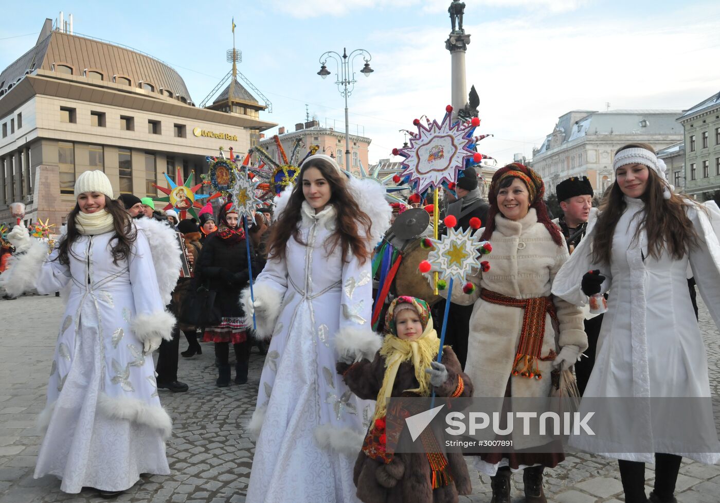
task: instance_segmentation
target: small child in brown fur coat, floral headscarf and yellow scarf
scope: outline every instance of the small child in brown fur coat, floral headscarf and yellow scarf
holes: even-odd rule
[[[337,371],[361,399],[377,399],[372,423],[355,463],[357,497],[364,503],[455,503],[469,494],[470,479],[461,453],[446,453],[433,465],[426,453],[386,453],[386,399],[391,396],[472,396],[472,383],[449,346],[436,362],[440,341],[428,304],[400,296],[385,317],[386,335],[372,361],[355,348],[338,345]]]

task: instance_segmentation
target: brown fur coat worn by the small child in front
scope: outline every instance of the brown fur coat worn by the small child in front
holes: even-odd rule
[[[448,379],[435,389],[436,395],[453,394],[457,377],[462,376],[464,391],[461,396],[472,396],[472,383],[449,346],[443,349],[442,363],[448,371]],[[382,386],[385,358],[378,352],[372,362],[365,359],[352,366],[338,363],[337,370],[344,374],[343,380],[359,398],[374,400]],[[401,363],[392,386],[392,396],[401,396],[405,389],[417,387],[413,364]],[[364,503],[456,503],[458,494],[470,494],[470,477],[461,453],[447,453],[446,456],[454,484],[433,490],[430,464],[425,454],[397,453],[386,465],[361,451],[353,474],[357,497]]]

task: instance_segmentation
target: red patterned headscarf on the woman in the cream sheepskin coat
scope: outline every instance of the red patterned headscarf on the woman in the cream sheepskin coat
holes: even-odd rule
[[[500,212],[498,208],[498,192],[500,191],[500,183],[507,178],[520,178],[528,188],[530,194],[530,207],[535,209],[538,217],[538,222],[545,226],[547,232],[550,233],[552,240],[558,246],[564,245],[564,239],[560,235],[560,231],[557,225],[554,225],[547,214],[547,207],[545,202],[542,200],[545,195],[545,184],[542,181],[541,176],[533,171],[531,168],[524,166],[521,163],[508,164],[492,176],[490,182],[490,211],[487,212],[487,225],[485,225],[485,232],[482,233],[482,240],[489,240],[492,232],[495,230],[495,215]]]

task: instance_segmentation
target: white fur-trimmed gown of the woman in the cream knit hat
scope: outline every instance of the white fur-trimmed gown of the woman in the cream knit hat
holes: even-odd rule
[[[143,354],[138,325],[167,324],[150,245],[138,231],[127,260],[112,262],[114,232],[83,235],[70,263],[45,260],[36,281],[41,294],[71,282],[55,348],[47,432],[35,478],[52,474],[60,489],[128,489],[140,473],[168,474],[165,438],[171,421],[158,399],[153,358]],[[55,258],[55,249],[50,259]]]

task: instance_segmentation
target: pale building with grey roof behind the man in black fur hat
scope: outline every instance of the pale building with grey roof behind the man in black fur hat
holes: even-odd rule
[[[680,110],[573,110],[559,117],[540,148],[533,149],[532,168],[540,173],[547,194],[570,176],[587,176],[593,189],[613,181],[615,150],[632,142],[662,149],[683,140],[676,119]]]

